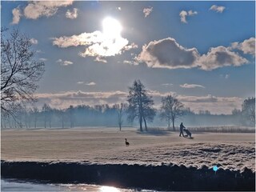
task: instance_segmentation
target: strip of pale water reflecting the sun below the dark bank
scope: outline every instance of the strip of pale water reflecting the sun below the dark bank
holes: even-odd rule
[[[138,190],[120,189],[114,186],[97,186],[86,184],[42,184],[38,182],[24,182],[16,179],[1,179],[1,191],[134,192]],[[140,191],[152,192],[153,190]]]

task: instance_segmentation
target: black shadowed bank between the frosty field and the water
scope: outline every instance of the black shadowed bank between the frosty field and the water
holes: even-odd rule
[[[5,162],[2,178],[33,179],[52,183],[87,183],[150,190],[255,191],[255,173],[208,167],[94,165],[77,162]]]

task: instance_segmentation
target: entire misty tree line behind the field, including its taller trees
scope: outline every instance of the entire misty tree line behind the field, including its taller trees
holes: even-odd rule
[[[2,114],[1,114],[2,115]],[[11,115],[2,115],[2,128],[73,128],[79,126],[167,126],[167,130],[175,130],[177,119],[189,126],[218,125],[255,125],[255,98],[246,98],[242,110],[234,109],[232,114],[210,114],[209,110],[200,110],[198,114],[190,108],[185,108],[182,102],[172,95],[162,98],[162,106],[154,109],[154,101],[140,81],[135,81],[129,87],[127,103],[117,103],[113,106],[69,106],[66,109],[55,109],[48,104],[42,108],[37,106],[19,106],[15,111],[15,120]],[[136,120],[136,121],[135,121]]]

